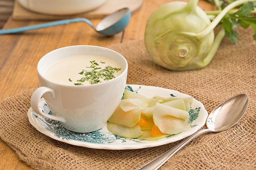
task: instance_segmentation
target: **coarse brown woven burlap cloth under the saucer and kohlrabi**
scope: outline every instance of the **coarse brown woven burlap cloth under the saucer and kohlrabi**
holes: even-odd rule
[[[212,62],[201,70],[177,72],[156,65],[142,39],[109,47],[128,61],[127,84],[186,93],[202,102],[208,113],[231,96],[246,93],[250,98],[248,110],[234,127],[197,137],[160,169],[256,169],[256,43],[252,29],[238,32],[238,43],[224,38]],[[34,90],[1,102],[0,137],[35,169],[136,169],[179,142],[115,151],[56,141],[29,124],[27,111]]]

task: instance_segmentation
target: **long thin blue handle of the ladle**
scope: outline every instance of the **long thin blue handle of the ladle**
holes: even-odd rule
[[[34,29],[38,29],[38,28],[45,28],[45,27],[50,27],[50,26],[55,26],[55,25],[64,25],[64,24],[68,24],[68,23],[81,22],[81,21],[86,22],[92,28],[94,28],[94,26],[92,25],[92,22],[89,19],[72,18],[72,19],[62,19],[62,20],[58,20],[58,21],[46,22],[43,24],[36,24],[36,25],[23,26],[23,27],[19,27],[19,28],[0,30],[0,34],[12,34],[12,33],[17,33],[17,32],[28,31],[28,30],[34,30]]]

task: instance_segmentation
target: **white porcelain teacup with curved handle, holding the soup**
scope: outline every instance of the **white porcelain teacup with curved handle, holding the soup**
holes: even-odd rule
[[[63,85],[44,78],[44,72],[54,62],[75,55],[97,54],[116,61],[122,73],[116,78],[83,86]],[[102,128],[116,109],[124,93],[128,64],[125,58],[100,46],[67,46],[44,55],[37,64],[40,87],[31,96],[31,108],[39,115],[60,121],[70,131],[91,132]],[[39,107],[41,97],[53,115]]]

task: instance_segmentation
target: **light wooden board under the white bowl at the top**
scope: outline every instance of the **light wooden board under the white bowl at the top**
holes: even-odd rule
[[[56,20],[66,18],[103,18],[122,8],[129,8],[131,12],[137,11],[143,0],[108,0],[104,5],[96,10],[76,15],[47,15],[36,13],[23,8],[17,1],[14,3],[12,19],[14,20]]]

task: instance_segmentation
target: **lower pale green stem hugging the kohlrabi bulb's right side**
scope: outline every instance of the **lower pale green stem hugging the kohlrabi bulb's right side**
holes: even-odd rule
[[[220,30],[220,32],[217,34],[217,36],[215,37],[214,42],[212,44],[212,48],[210,49],[210,51],[208,52],[207,56],[204,59],[203,63],[205,64],[205,66],[207,66],[209,64],[209,62],[211,62],[213,56],[215,55],[216,51],[218,50],[218,48],[220,46],[220,43],[221,43],[222,39],[224,38],[225,34],[226,34],[225,29],[222,28]]]

